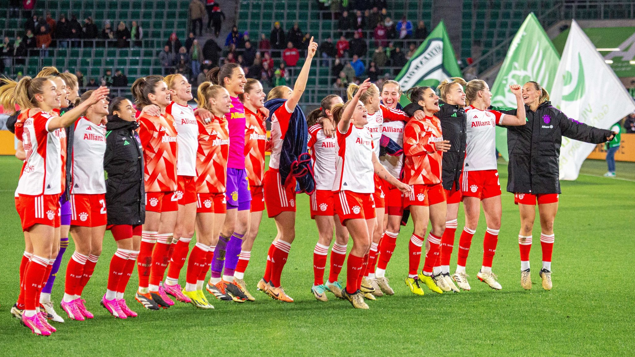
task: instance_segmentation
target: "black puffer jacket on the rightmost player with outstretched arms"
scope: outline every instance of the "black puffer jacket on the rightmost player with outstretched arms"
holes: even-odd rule
[[[497,108],[494,108],[497,109]],[[501,110],[516,115],[516,109]],[[551,102],[538,105],[535,112],[525,105],[527,123],[507,128],[509,179],[507,192],[549,194],[561,193],[559,157],[562,137],[600,144],[612,131],[580,123],[556,109]]]

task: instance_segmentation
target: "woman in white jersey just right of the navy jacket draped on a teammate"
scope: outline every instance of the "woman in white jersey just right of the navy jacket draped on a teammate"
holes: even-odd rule
[[[320,103],[320,107],[307,117],[309,125],[309,149],[311,150],[311,162],[316,181],[316,191],[311,194],[311,219],[318,226],[318,243],[313,250],[313,286],[311,292],[316,299],[328,300],[326,292],[330,291],[336,297],[342,297],[342,285],[338,281],[344,260],[346,248],[349,242],[349,231],[342,226],[340,217],[335,214],[335,193],[331,191],[335,181],[335,158],[337,157],[336,139],[331,132],[324,128],[335,128],[333,119],[333,107],[344,101],[338,95],[327,95]],[[321,121],[321,123],[319,123]],[[327,133],[327,131],[329,131]],[[335,244],[331,248],[330,273],[324,283],[324,270],[326,269],[326,255],[328,247],[333,241],[335,231]]]

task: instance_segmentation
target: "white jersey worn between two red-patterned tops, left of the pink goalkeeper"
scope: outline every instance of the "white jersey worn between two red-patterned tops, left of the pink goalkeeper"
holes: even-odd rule
[[[174,118],[174,127],[177,130],[177,175],[196,176],[198,125],[194,117],[194,109],[189,105],[171,102],[165,112]]]

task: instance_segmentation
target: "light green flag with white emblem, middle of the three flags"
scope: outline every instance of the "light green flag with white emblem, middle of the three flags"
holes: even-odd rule
[[[491,105],[516,108],[516,97],[509,90],[510,84],[537,81],[550,91],[560,58],[538,19],[530,13],[509,45],[507,56],[491,87]],[[549,92],[551,93],[551,91]],[[496,149],[509,160],[507,129],[496,127]]]

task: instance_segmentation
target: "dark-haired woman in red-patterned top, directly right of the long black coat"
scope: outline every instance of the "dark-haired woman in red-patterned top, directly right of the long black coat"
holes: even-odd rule
[[[146,213],[137,258],[139,289],[135,299],[144,307],[158,304],[167,309],[174,302],[159,285],[168,266],[177,221],[177,130],[173,117],[165,112],[171,101],[163,77],[138,78],[130,89],[138,109],[154,104],[161,111],[159,116],[142,112],[138,117],[144,150]]]

